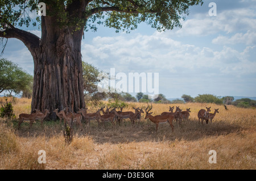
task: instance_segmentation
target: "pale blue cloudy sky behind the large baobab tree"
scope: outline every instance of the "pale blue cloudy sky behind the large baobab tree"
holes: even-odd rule
[[[216,16],[210,16],[216,3]],[[256,0],[204,1],[189,8],[182,28],[158,32],[145,23],[130,33],[98,26],[85,32],[82,60],[110,73],[159,73],[159,93],[256,96]],[[37,27],[28,31],[40,36]],[[32,56],[9,39],[3,58],[33,74]],[[136,92],[129,92],[135,95]]]

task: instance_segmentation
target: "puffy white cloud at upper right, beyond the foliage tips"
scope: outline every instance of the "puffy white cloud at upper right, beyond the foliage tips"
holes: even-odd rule
[[[170,33],[177,36],[208,36],[216,33],[254,31],[256,29],[255,9],[223,10],[217,16],[199,13],[192,19],[181,21],[182,28]]]

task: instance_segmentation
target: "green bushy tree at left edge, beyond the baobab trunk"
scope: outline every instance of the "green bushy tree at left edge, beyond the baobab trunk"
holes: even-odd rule
[[[26,73],[17,64],[6,60],[0,59],[0,93],[3,91],[9,91],[19,94],[22,91],[28,89],[31,86],[32,75]]]

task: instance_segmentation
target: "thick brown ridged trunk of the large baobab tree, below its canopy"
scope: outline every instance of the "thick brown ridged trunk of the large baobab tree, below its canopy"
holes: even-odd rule
[[[76,112],[85,107],[82,86],[82,31],[42,30],[42,40],[34,57],[34,86],[31,111],[48,109],[55,119],[56,108]]]

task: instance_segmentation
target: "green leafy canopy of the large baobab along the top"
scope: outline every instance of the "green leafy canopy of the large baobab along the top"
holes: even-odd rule
[[[13,26],[37,26],[36,21],[29,16],[29,12],[38,11],[41,1],[0,1],[0,28],[9,22]],[[180,19],[189,14],[189,6],[202,5],[203,0],[191,1],[127,1],[127,0],[93,0],[84,5],[84,1],[60,0],[43,1],[47,5],[47,16],[55,18],[55,26],[69,26],[74,30],[96,31],[97,24],[115,28],[118,31],[130,32],[145,22],[158,31],[172,30],[181,27]],[[84,6],[84,8],[81,8]]]

